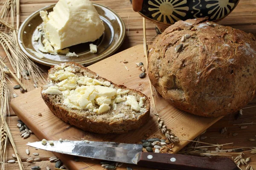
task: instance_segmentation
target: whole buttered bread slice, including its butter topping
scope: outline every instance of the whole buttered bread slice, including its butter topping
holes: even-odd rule
[[[125,133],[144,125],[150,102],[140,91],[116,85],[73,62],[52,66],[41,95],[49,109],[83,130]]]

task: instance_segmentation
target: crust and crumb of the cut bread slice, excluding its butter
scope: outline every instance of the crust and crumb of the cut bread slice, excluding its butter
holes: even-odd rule
[[[126,88],[123,85],[116,85],[110,81],[108,82],[111,83],[111,88],[116,90],[121,89],[121,92],[128,91],[127,94],[122,94],[122,97],[125,95],[132,95],[135,96],[137,101],[140,101],[140,98],[143,98],[143,111],[134,111],[131,109],[130,105],[126,105],[125,102],[119,102],[116,104],[116,108],[113,108],[113,106],[111,106],[110,110],[104,113],[97,114],[88,109],[75,109],[68,107],[68,105],[64,105],[64,96],[61,93],[45,93],[47,88],[53,85],[58,85],[58,83],[61,82],[60,80],[52,80],[52,75],[60,69],[66,70],[66,68],[73,69],[73,74],[78,77],[87,76],[93,79],[97,79],[100,82],[108,81],[105,78],[99,77],[96,73],[90,71],[88,68],[82,65],[78,65],[76,63],[69,62],[57,66],[52,66],[51,69],[48,71],[48,84],[41,88],[41,95],[44,99],[44,102],[47,104],[52,113],[54,113],[64,122],[70,123],[70,125],[74,125],[83,130],[95,133],[125,133],[128,130],[137,129],[138,127],[148,122],[150,102],[147,96],[142,94],[140,91]],[[77,84],[77,87],[80,86],[81,85]],[[95,107],[99,108],[99,105],[95,104]]]

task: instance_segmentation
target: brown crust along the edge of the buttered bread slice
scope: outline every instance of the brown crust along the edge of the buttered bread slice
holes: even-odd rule
[[[105,81],[109,81],[103,77],[97,76],[96,73],[91,71],[90,69],[79,65],[74,62],[67,63],[68,65],[77,65],[81,67],[81,69],[85,72],[89,72],[90,74],[97,77],[97,79],[104,79]],[[55,72],[54,66],[51,67],[51,69],[48,71],[49,74]],[[48,82],[49,82],[49,74],[48,74]],[[111,81],[109,81],[111,82]],[[123,90],[129,90],[132,93],[136,93],[140,95],[141,97],[144,97],[145,95],[141,93],[140,91],[136,91],[134,89],[126,88],[124,85],[116,85],[115,83],[111,82],[115,87],[122,88]],[[45,90],[46,87],[42,87],[41,91]],[[130,93],[130,92],[129,92]],[[128,94],[129,94],[128,93]],[[67,108],[64,105],[61,105],[60,103],[56,103],[51,98],[52,95],[49,94],[42,94],[42,98],[44,99],[44,102],[47,104],[49,109],[52,111],[53,114],[55,114],[58,118],[62,119],[64,122],[69,123],[70,125],[74,125],[76,127],[79,127],[83,130],[87,130],[90,132],[95,133],[126,133],[128,130],[134,130],[139,128],[140,126],[144,125],[146,122],[148,122],[149,119],[149,113],[150,113],[150,102],[145,96],[144,105],[146,106],[146,112],[138,116],[137,119],[119,119],[118,121],[106,121],[106,120],[95,120],[90,119],[87,116],[84,116],[83,114],[79,114],[76,112],[75,109]]]

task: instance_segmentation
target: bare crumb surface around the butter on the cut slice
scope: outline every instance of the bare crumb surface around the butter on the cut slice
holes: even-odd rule
[[[60,80],[55,81],[55,80],[51,79],[50,75],[54,74],[58,70],[61,70],[61,69],[67,68],[67,67],[73,68],[74,69],[73,73],[76,74],[78,77],[87,76],[87,77],[90,77],[93,79],[97,79],[100,82],[108,81],[107,79],[99,77],[97,74],[93,73],[92,71],[88,71],[87,68],[81,67],[80,65],[77,65],[75,63],[64,63],[62,65],[52,67],[49,70],[48,84],[42,88],[42,93],[44,93],[47,90],[47,88],[49,88],[49,86],[57,85],[59,82],[61,82]],[[110,82],[110,83],[111,83],[111,88],[113,88],[113,89],[116,89],[116,90],[121,89],[121,91],[128,91],[127,94],[119,95],[122,98],[125,98],[125,96],[128,96],[128,95],[132,95],[132,96],[135,96],[137,102],[140,102],[141,98],[145,99],[144,103],[143,103],[143,107],[140,109],[140,111],[135,111],[134,109],[131,108],[131,105],[128,105],[124,101],[124,102],[116,103],[116,107],[114,107],[114,105],[110,105],[111,107],[110,107],[109,111],[106,111],[101,114],[97,114],[97,113],[93,112],[92,110],[74,109],[74,108],[67,107],[67,105],[63,105],[64,96],[61,94],[60,95],[47,94],[47,95],[48,95],[49,99],[52,102],[54,102],[56,105],[58,105],[60,108],[67,110],[70,113],[74,113],[74,114],[80,115],[82,117],[86,117],[87,119],[97,121],[97,122],[119,122],[119,121],[122,122],[123,119],[130,119],[133,121],[133,120],[139,119],[141,115],[145,114],[145,112],[147,112],[149,110],[149,101],[144,94],[142,94],[138,91],[127,89],[122,85],[115,85],[112,82]],[[81,87],[81,85],[78,84],[77,87]],[[95,108],[99,109],[99,105],[97,105],[97,103],[95,103]]]

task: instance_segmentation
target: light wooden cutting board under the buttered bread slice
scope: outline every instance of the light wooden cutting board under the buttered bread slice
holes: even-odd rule
[[[124,64],[122,61],[128,61],[128,63]],[[143,45],[129,48],[112,57],[97,62],[96,64],[90,65],[88,68],[99,74],[101,77],[105,77],[116,84],[123,84],[128,88],[140,90],[151,98],[148,76],[144,79],[139,78],[141,71],[136,66],[135,62],[143,62],[146,65]],[[175,147],[173,148],[174,153],[177,153],[189,143],[186,140],[195,139],[196,136],[221,119],[221,117],[204,118],[180,111],[159,95],[155,95],[154,99],[157,111],[160,117],[165,120],[167,127],[171,128],[180,139],[184,139],[178,144],[175,144]],[[35,133],[36,136],[38,136],[39,139],[86,139],[91,141],[138,143],[142,139],[151,137],[158,137],[160,139],[165,138],[158,129],[157,119],[154,116],[152,104],[151,119],[146,125],[125,134],[107,135],[79,130],[76,127],[63,122],[61,119],[58,119],[44,103],[39,88],[13,99],[11,101],[11,106],[16,115]],[[38,116],[38,113],[41,113],[42,116]],[[95,164],[95,161],[92,163],[89,159],[83,159],[77,162],[74,161],[73,156],[59,153],[55,153],[55,155],[58,156],[71,170],[85,169],[88,165],[93,165],[93,169],[95,170],[102,170],[100,164]]]

